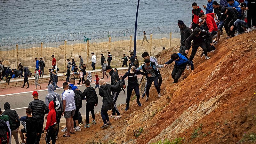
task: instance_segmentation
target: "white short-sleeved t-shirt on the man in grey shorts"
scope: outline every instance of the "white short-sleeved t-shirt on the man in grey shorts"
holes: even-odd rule
[[[75,92],[73,90],[66,90],[62,94],[62,100],[66,100],[65,111],[72,111],[76,109]]]

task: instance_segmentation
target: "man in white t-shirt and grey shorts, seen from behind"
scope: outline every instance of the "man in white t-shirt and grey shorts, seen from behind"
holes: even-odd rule
[[[63,137],[70,137],[70,133],[74,133],[73,116],[76,111],[75,93],[73,90],[68,89],[68,83],[62,84],[64,92],[61,94],[63,102],[64,117],[66,118],[67,133]],[[70,130],[71,129],[71,130]]]

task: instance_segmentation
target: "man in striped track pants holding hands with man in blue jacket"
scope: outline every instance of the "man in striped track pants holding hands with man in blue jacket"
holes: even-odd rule
[[[158,65],[153,61],[150,61],[149,59],[144,60],[144,64],[142,64],[137,70],[143,70],[144,73],[146,73],[147,77],[147,84],[146,84],[146,102],[148,102],[149,98],[149,89],[152,85],[152,82],[154,82],[156,91],[158,93],[158,97],[161,97],[160,88],[158,85],[158,72],[157,68],[163,68],[163,65]]]

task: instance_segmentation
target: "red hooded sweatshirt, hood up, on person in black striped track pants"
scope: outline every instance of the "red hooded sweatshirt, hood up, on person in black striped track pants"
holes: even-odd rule
[[[48,128],[54,124],[56,124],[56,112],[55,112],[55,108],[54,108],[54,102],[51,101],[49,104],[49,113],[47,116],[47,121],[46,121],[46,125],[45,125],[45,130],[47,131]]]

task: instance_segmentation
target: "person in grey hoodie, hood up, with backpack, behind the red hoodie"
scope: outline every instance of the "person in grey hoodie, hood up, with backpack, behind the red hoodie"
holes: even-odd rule
[[[56,99],[54,99],[56,98]],[[56,92],[54,92],[54,87],[52,84],[49,84],[48,86],[48,94],[45,96],[45,104],[47,107],[49,107],[50,102],[54,100],[56,103],[56,120],[57,120],[57,124],[58,124],[58,128],[57,128],[57,132],[56,132],[56,139],[58,139],[58,134],[59,134],[59,129],[60,129],[60,118],[61,116],[63,116],[63,104],[62,104],[62,100],[60,98],[60,95]],[[57,105],[59,103],[59,105]],[[47,117],[47,115],[45,116],[45,118]]]

